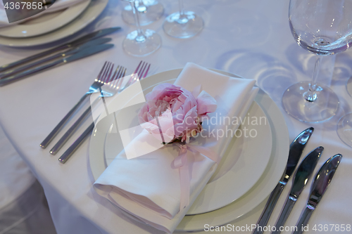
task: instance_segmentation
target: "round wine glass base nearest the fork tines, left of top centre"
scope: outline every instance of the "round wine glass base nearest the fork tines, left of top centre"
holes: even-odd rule
[[[122,42],[122,48],[131,56],[147,56],[161,46],[161,37],[153,30],[145,30],[144,38],[138,37],[137,30],[127,34]]]

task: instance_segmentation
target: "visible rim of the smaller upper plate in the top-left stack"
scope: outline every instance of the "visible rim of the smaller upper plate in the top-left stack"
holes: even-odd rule
[[[18,25],[1,27],[0,36],[2,37],[34,37],[41,34],[46,34],[57,30],[63,25],[67,25],[69,22],[74,20],[80,13],[82,13],[87,6],[89,6],[91,0],[82,1],[79,4],[75,4],[69,8],[58,13],[47,13],[30,20],[30,22],[23,22]]]

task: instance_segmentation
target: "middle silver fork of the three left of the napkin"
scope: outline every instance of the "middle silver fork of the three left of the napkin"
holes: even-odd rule
[[[118,66],[114,72],[114,74],[112,75],[113,72],[113,65],[111,66],[111,68],[106,72],[106,76],[103,76],[102,79],[99,79],[98,82],[100,82],[102,85],[103,84],[113,84],[113,82],[115,82],[116,80],[120,79],[121,77],[125,76],[126,73],[126,68],[122,67],[122,66]],[[83,120],[87,117],[87,115],[91,112],[92,110],[92,106],[96,105],[96,103],[100,100],[100,98],[103,97],[109,97],[109,96],[113,96],[114,90],[112,91],[106,91],[106,90],[101,90],[101,87],[99,87],[99,90],[101,92],[100,96],[98,98],[96,98],[96,100],[94,100],[91,105],[89,105],[89,107],[87,108],[87,110],[85,110],[82,115],[76,120],[76,122],[70,127],[70,129],[68,129],[68,131],[65,132],[65,134],[63,134],[63,136],[60,138],[60,140],[58,140],[58,142],[54,145],[54,147],[50,150],[50,153],[52,155],[56,155],[56,152],[58,152],[58,150],[60,150],[63,145],[66,143],[66,141],[68,141],[68,139],[70,138],[70,136],[72,136],[72,134],[75,132],[75,130],[78,128],[78,126],[80,126],[80,124],[83,122]]]

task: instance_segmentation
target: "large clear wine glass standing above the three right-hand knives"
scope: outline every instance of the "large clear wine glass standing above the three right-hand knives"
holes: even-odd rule
[[[292,35],[299,46],[317,55],[312,80],[290,86],[282,96],[284,110],[296,119],[321,122],[336,114],[339,98],[317,79],[322,56],[345,51],[351,45],[351,11],[349,0],[290,0]]]

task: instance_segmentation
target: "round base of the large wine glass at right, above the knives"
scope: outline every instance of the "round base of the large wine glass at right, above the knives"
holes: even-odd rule
[[[302,122],[322,122],[336,115],[339,98],[336,93],[323,84],[317,84],[318,98],[313,102],[303,95],[308,91],[310,82],[299,82],[284,91],[282,105],[292,117]]]

